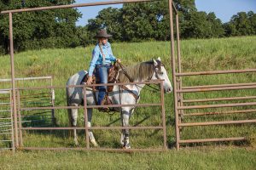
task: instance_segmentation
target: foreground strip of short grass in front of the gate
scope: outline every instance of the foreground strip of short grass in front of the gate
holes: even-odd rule
[[[18,151],[3,153],[0,169],[255,169],[256,152],[219,147],[160,153]]]

